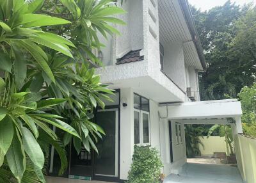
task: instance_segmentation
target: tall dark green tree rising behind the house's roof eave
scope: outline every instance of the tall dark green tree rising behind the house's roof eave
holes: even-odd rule
[[[240,29],[237,20],[242,19],[249,9],[250,4],[240,7],[231,1],[209,12],[200,12],[192,7],[209,64],[200,79],[202,100],[226,99],[225,93],[236,97],[244,85],[253,83],[252,72],[248,72],[248,67],[252,67],[253,63],[248,62],[246,67],[241,67],[243,65],[234,48],[234,40]],[[246,40],[243,41],[246,44]]]

